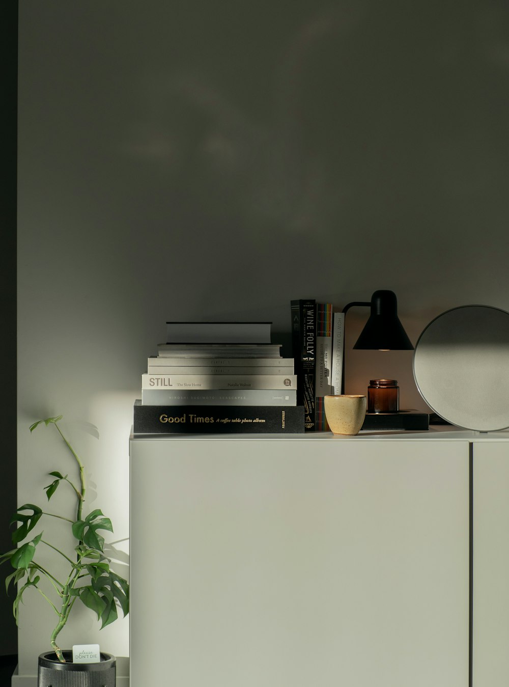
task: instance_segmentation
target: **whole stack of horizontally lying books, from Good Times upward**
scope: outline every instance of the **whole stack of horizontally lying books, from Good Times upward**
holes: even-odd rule
[[[135,433],[304,431],[293,358],[270,322],[167,322],[148,358]]]

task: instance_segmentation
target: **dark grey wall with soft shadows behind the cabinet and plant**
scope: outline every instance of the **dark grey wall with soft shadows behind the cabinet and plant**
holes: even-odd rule
[[[509,309],[508,22],[498,0],[22,0],[19,499],[65,460],[28,425],[63,412],[126,558],[167,319],[270,319],[289,354],[295,297],[393,289],[414,343],[447,308]],[[395,376],[425,408],[411,352],[346,365],[347,392]],[[88,622],[127,655],[126,623]],[[21,671],[47,627],[21,628]]]

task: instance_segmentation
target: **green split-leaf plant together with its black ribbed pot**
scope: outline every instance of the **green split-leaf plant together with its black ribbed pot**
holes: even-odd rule
[[[60,415],[39,420],[30,427],[30,431],[34,431],[42,423],[46,427],[52,425],[67,445],[73,456],[73,462],[76,464],[78,480],[69,477],[68,473],[52,471],[49,475],[53,477],[53,480],[45,486],[45,491],[49,501],[60,484],[65,484],[76,497],[76,512],[58,515],[47,513],[34,504],[20,506],[10,520],[10,524],[18,523],[16,530],[12,533],[12,543],[16,545],[16,548],[1,555],[0,564],[10,561],[14,568],[14,572],[5,579],[5,587],[8,589],[10,584],[18,585],[12,606],[16,623],[19,620],[19,604],[25,600],[28,589],[30,589],[28,594],[33,591],[41,594],[52,611],[56,613],[56,624],[49,638],[52,650],[39,656],[39,687],[52,684],[65,686],[79,684],[83,687],[95,685],[110,687],[111,685],[114,687],[116,674],[114,656],[101,653],[99,663],[72,663],[72,652],[60,649],[57,642],[58,634],[65,627],[78,600],[97,615],[102,623],[101,629],[117,619],[118,607],[124,616],[129,611],[128,583],[111,570],[111,561],[104,555],[104,538],[100,531],[113,532],[111,520],[104,517],[98,508],[87,514],[84,512],[86,493],[84,466],[58,426],[61,418]],[[54,517],[69,523],[73,542],[76,543],[73,551],[60,550],[60,544],[47,541],[43,531],[32,536],[40,520]],[[64,561],[67,570],[63,576],[60,572],[48,570],[47,564],[43,566],[38,563],[37,551],[41,547],[48,548],[56,558]]]

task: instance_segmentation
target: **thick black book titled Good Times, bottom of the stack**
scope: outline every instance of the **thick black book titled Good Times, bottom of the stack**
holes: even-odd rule
[[[167,407],[137,400],[133,420],[136,434],[304,433],[302,406]]]

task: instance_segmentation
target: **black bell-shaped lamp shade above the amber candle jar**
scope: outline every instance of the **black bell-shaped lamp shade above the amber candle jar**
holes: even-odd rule
[[[398,302],[393,291],[375,291],[371,314],[357,343],[357,350],[413,350],[410,339],[398,319]]]

